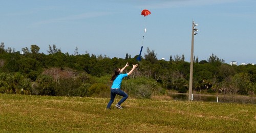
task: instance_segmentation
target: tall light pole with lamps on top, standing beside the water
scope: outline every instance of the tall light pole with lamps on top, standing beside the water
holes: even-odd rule
[[[195,27],[197,26],[197,24],[195,24],[194,20],[192,23],[192,40],[191,40],[191,55],[190,55],[190,75],[189,75],[189,89],[188,89],[188,100],[192,101],[193,97],[192,97],[192,86],[193,86],[193,63],[194,63],[194,35],[196,35],[196,31],[198,31],[198,29],[196,29]]]

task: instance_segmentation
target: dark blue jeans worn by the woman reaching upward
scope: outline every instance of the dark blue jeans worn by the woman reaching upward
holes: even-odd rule
[[[118,105],[121,105],[128,98],[128,95],[125,92],[123,92],[122,90],[111,88],[110,102],[108,103],[106,108],[111,107],[111,104],[114,102],[116,95],[123,96],[123,98],[117,103]]]

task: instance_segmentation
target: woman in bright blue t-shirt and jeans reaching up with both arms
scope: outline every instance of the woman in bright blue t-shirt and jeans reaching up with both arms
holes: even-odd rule
[[[129,66],[128,63],[126,63],[125,66],[122,69],[116,69],[115,74],[111,78],[112,86],[111,86],[110,101],[109,101],[108,105],[106,106],[106,108],[108,108],[108,109],[110,109],[111,104],[114,102],[116,95],[119,95],[119,96],[123,97],[116,104],[116,107],[118,107],[119,109],[122,109],[122,107],[120,105],[128,98],[128,95],[121,90],[122,79],[124,77],[127,77],[128,75],[132,74],[134,69],[138,66],[138,64],[135,64],[135,65],[133,64],[133,69],[129,73],[122,74],[123,70],[127,66]]]

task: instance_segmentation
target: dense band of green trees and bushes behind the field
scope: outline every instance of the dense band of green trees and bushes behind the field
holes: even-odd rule
[[[134,73],[122,84],[123,90],[139,98],[164,95],[166,90],[186,93],[190,62],[184,55],[158,60],[147,48],[141,61],[126,53],[125,58],[109,58],[86,52],[62,53],[55,45],[47,54],[31,45],[22,54],[0,45],[0,93],[51,96],[109,96],[110,77],[116,68],[138,63]],[[253,95],[256,93],[256,66],[229,65],[214,54],[207,60],[194,57],[193,91],[197,93]],[[131,66],[129,66],[131,67]],[[129,70],[129,68],[127,68]],[[125,72],[124,72],[125,73]]]

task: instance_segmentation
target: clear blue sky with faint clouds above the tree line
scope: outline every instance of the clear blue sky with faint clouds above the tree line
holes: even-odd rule
[[[256,63],[254,0],[1,0],[0,5],[0,41],[15,51],[37,45],[47,54],[49,45],[56,45],[62,53],[73,54],[77,47],[78,54],[125,58],[138,55],[143,45],[143,57],[148,47],[158,59],[184,54],[190,61],[194,20],[199,61],[213,53],[225,63]],[[146,19],[143,9],[151,11]]]

